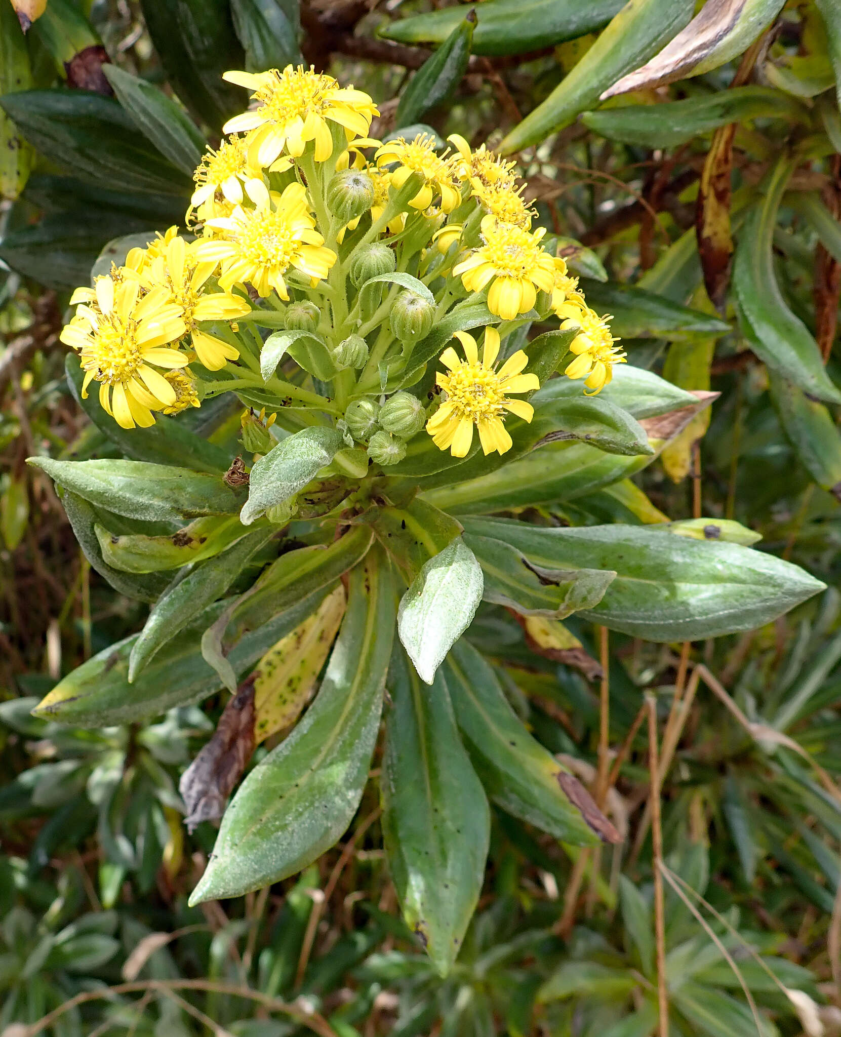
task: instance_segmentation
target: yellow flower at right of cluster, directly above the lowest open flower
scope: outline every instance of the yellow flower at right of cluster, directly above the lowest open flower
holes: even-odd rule
[[[552,291],[557,259],[540,246],[545,230],[534,233],[486,216],[481,223],[484,244],[453,268],[468,291],[488,282],[487,308],[503,320],[526,313],[537,300],[537,288]]]

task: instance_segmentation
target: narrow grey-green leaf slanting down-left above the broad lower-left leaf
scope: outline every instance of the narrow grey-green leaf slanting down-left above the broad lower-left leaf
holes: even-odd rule
[[[195,568],[167,591],[149,613],[132,648],[129,681],[135,680],[148,661],[184,629],[200,612],[222,597],[250,559],[275,535],[275,530],[256,529],[241,537],[222,554]]]

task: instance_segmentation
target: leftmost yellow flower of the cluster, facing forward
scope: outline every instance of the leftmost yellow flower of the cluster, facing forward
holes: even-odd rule
[[[183,353],[166,348],[186,331],[179,308],[164,288],[141,291],[134,278],[116,284],[96,278],[93,299],[89,288],[74,292],[71,302],[80,305],[61,332],[61,341],[80,354],[82,396],[94,379],[101,382],[100,402],[123,428],[153,425],[151,412],[175,403],[175,389],[156,368],[188,363]]]

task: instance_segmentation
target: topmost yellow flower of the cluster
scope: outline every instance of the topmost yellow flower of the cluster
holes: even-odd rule
[[[380,111],[362,90],[342,89],[332,76],[312,67],[286,65],[283,72],[226,72],[223,79],[252,91],[254,111],[228,119],[225,133],[253,130],[249,142],[252,165],[271,166],[285,148],[298,158],[307,141],[315,141],[315,161],[333,153],[333,135],[328,119],[344,128],[347,140],[365,137]]]

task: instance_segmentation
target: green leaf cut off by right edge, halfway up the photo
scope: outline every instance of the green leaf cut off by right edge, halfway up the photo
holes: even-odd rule
[[[769,388],[797,457],[821,488],[841,500],[841,432],[829,410],[774,372]]]

